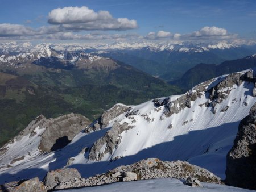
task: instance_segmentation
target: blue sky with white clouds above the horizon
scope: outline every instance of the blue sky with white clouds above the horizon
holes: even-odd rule
[[[0,0],[0,41],[253,42],[255,0]]]

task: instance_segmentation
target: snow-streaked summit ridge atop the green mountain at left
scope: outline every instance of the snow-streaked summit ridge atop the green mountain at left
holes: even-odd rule
[[[119,67],[117,62],[107,57],[79,52],[56,51],[46,45],[33,52],[19,53],[18,55],[0,55],[1,68],[14,66],[15,68],[26,68],[27,66],[45,66],[55,69],[104,69],[114,70]]]

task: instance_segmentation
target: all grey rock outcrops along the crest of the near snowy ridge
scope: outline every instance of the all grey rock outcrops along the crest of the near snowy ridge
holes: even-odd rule
[[[254,83],[253,90],[256,90],[256,78],[253,74],[253,70],[248,70],[246,72],[240,73],[232,73],[228,76],[214,78],[193,87],[193,89],[189,90],[183,95],[180,95],[179,97],[158,98],[153,99],[152,102],[156,107],[156,112],[162,110],[163,106],[164,115],[160,116],[160,120],[163,120],[164,118],[170,118],[174,114],[179,114],[181,111],[185,110],[185,108],[191,108],[192,102],[195,102],[197,99],[200,99],[202,97],[207,98],[207,101],[204,103],[200,103],[199,107],[209,107],[212,113],[215,114],[217,108],[220,108],[219,106],[221,105],[221,103],[224,102],[225,99],[229,97],[231,91],[235,89],[233,86],[240,86],[242,82]],[[252,95],[254,97],[256,96],[253,93]],[[235,100],[237,99],[235,98]],[[247,103],[244,102],[243,105],[246,106]],[[226,105],[220,109],[220,112],[225,112],[228,110],[229,105]],[[126,115],[125,117],[123,117],[123,119],[114,119],[123,112],[126,112]],[[135,116],[137,115],[142,116],[145,120],[147,120],[147,122],[154,121],[155,119],[150,118],[150,114],[141,114],[139,110],[134,110],[132,107],[124,105],[115,106],[114,108],[110,109],[108,112],[108,116],[102,115],[102,117],[96,123],[94,123],[94,125],[92,125],[94,129],[97,127],[106,127],[106,125],[111,122],[111,120],[114,123],[110,123],[109,127],[112,126],[112,128],[105,133],[104,137],[101,137],[94,143],[93,147],[90,149],[89,159],[100,161],[107,153],[111,156],[114,149],[118,148],[118,145],[122,140],[122,132],[130,130],[134,127],[133,123],[136,123]],[[127,123],[126,121],[131,123]],[[189,121],[193,122],[193,119],[190,119]],[[188,120],[184,121],[183,126],[187,123]],[[169,129],[171,129],[172,127],[172,124],[168,125]],[[114,158],[116,157],[111,156],[110,158],[114,160]]]

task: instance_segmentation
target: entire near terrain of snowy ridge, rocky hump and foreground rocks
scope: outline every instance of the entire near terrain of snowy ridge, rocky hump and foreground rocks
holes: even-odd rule
[[[203,189],[216,185],[200,182],[255,189],[255,172],[250,172],[255,170],[255,73],[223,75],[185,94],[139,105],[116,104],[89,126],[80,115],[38,116],[0,149],[2,189],[67,189],[167,177]],[[71,124],[81,130],[77,135],[65,132]],[[56,126],[64,131],[50,137]],[[68,142],[53,148],[57,138]],[[250,170],[240,178],[243,163]],[[23,179],[31,180],[13,182]]]

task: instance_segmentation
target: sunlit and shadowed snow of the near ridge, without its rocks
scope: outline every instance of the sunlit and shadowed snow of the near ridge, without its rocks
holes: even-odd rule
[[[226,76],[215,78],[208,85],[208,89],[225,78]],[[127,116],[125,112],[110,119],[102,130],[80,132],[71,143],[55,152],[42,153],[38,150],[40,132],[35,130],[36,135],[9,144],[8,151],[0,156],[0,183],[36,176],[42,180],[48,170],[63,168],[70,158],[73,162],[69,167],[79,170],[82,177],[105,173],[120,165],[133,164],[154,157],[163,161],[188,161],[225,179],[226,154],[232,148],[238,124],[249,114],[251,106],[256,102],[253,89],[253,83],[244,81],[240,86],[233,85],[220,90],[229,90],[230,93],[226,99],[216,105],[215,113],[212,107],[205,105],[210,102],[208,92],[201,92],[201,98],[191,101],[191,108],[185,107],[169,117],[164,114],[166,112],[164,105],[156,106],[153,100],[130,106],[129,112],[137,111],[134,115]],[[191,92],[193,91],[195,90],[192,89]],[[171,102],[180,96],[174,95],[167,99]],[[226,106],[229,106],[228,109]],[[121,125],[127,123],[132,128],[119,134],[120,141],[111,154],[106,152],[108,144],[105,143],[97,151],[98,155],[104,154],[104,156],[99,161],[89,160],[90,150],[85,150],[85,147],[92,148],[115,122]],[[24,157],[20,158],[22,156]],[[14,157],[18,161],[13,162]],[[138,181],[134,182],[134,185],[139,182],[147,185],[148,182],[156,181],[158,180]],[[176,180],[159,180],[159,182],[167,181],[179,183]],[[113,185],[129,185],[129,183]],[[187,190],[186,187],[177,190]]]

